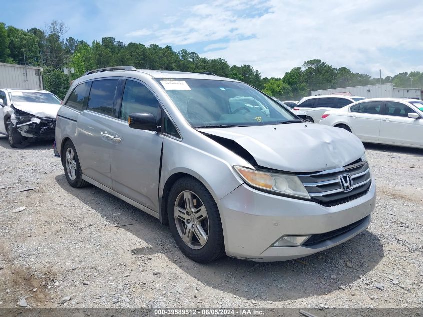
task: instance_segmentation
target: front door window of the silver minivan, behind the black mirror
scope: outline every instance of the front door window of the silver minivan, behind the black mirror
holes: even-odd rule
[[[143,84],[127,80],[122,97],[120,118],[128,120],[131,113],[149,112],[158,119],[159,101]]]

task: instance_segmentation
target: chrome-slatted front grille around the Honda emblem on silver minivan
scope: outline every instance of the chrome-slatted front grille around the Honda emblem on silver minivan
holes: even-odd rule
[[[352,190],[344,191],[339,177],[349,174],[352,178]],[[298,175],[311,200],[325,207],[332,207],[364,196],[371,185],[368,163],[355,161],[347,166]]]

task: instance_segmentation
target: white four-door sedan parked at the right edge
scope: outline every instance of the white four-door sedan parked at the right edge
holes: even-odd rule
[[[329,110],[319,124],[344,128],[363,142],[423,148],[423,101],[373,98]]]

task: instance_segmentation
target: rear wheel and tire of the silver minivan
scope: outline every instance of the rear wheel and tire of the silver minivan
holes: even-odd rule
[[[63,169],[68,184],[74,188],[87,186],[88,183],[82,179],[81,165],[79,164],[78,154],[72,141],[66,141],[62,150],[62,158]]]

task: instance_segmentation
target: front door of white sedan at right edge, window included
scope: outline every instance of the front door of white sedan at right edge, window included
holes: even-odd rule
[[[415,112],[401,102],[386,101],[380,126],[380,142],[419,146],[423,140],[423,119],[408,118]]]

